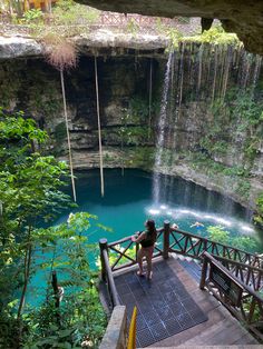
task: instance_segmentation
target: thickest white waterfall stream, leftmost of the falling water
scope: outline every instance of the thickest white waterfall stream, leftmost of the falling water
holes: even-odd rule
[[[159,113],[159,122],[157,128],[157,147],[155,153],[155,164],[154,164],[154,202],[159,202],[160,196],[160,180],[159,180],[159,169],[162,166],[162,156],[164,150],[164,142],[165,142],[165,127],[166,127],[166,119],[167,119],[167,102],[168,102],[168,90],[169,90],[169,82],[171,82],[171,67],[174,53],[169,53],[166,70],[165,70],[165,79],[164,79],[164,88],[162,94],[162,104],[160,104],[160,113]]]

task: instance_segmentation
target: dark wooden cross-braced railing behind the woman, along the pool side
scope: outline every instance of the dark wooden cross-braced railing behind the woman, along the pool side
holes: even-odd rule
[[[138,248],[138,243],[132,241],[132,236],[107,243],[111,270],[116,271],[135,265],[137,262],[136,256]],[[172,228],[168,221],[164,222],[163,228],[157,229],[154,258],[158,256],[168,258],[169,252],[175,252],[202,260],[202,253],[204,251],[210,252],[214,257],[225,258],[245,266],[249,265],[251,268],[262,268],[263,266],[263,258],[257,255]]]

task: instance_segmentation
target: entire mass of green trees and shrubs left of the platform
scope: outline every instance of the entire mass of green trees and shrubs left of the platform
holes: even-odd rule
[[[97,276],[89,268],[88,256],[97,251],[88,236],[105,227],[92,215],[76,213],[60,226],[39,228],[40,221],[48,223],[70,207],[70,198],[60,191],[68,169],[41,153],[47,139],[22,112],[0,110],[0,321],[4,328],[0,342],[3,348],[13,348],[13,342],[25,348],[72,348],[87,339],[96,347],[106,318],[95,287]],[[46,256],[42,262],[39,251]],[[47,277],[53,269],[58,273],[65,289],[59,310],[53,309],[50,283],[41,309],[32,311],[26,302],[28,285],[40,269]]]

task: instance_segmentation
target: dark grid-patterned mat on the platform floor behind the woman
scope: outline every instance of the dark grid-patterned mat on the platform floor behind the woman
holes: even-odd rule
[[[196,305],[166,261],[154,265],[148,281],[135,271],[115,277],[128,321],[137,307],[137,347],[147,347],[182,332],[208,318]]]

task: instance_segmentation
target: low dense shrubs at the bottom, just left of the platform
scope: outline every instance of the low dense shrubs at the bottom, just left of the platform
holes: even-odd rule
[[[56,322],[52,302],[32,313],[31,333],[23,348],[98,348],[106,328],[106,315],[95,287],[70,295],[60,309],[61,322]]]

